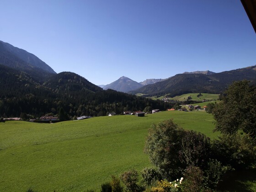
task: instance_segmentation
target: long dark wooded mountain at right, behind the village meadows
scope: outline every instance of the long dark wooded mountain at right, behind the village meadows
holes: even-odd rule
[[[177,74],[167,80],[152,85],[145,85],[131,94],[143,93],[149,96],[171,94],[171,96],[185,93],[216,93],[223,92],[233,81],[256,80],[256,65],[242,69],[224,71],[205,75],[202,73]]]

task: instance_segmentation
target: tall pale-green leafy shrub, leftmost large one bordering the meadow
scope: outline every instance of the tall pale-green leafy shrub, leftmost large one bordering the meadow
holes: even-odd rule
[[[171,119],[152,124],[146,139],[145,152],[161,176],[172,180],[181,175],[181,138],[185,130],[178,127]]]

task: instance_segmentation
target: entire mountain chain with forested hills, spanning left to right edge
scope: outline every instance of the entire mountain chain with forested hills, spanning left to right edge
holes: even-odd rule
[[[185,93],[221,93],[233,81],[256,83],[256,66],[221,73],[185,72],[168,79],[136,82],[122,76],[103,89],[72,72],[56,72],[32,53],[0,41],[0,116],[39,116],[58,113],[62,107],[69,116],[102,116],[107,112],[166,110],[171,103],[135,96],[171,96]],[[128,93],[128,94],[126,94]]]

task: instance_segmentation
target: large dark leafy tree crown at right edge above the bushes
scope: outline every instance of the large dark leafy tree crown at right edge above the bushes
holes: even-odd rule
[[[214,107],[216,129],[221,133],[242,130],[256,139],[256,86],[250,81],[234,82]]]

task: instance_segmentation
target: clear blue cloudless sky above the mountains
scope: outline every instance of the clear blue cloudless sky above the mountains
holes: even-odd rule
[[[240,0],[0,0],[0,40],[96,85],[256,64]]]

